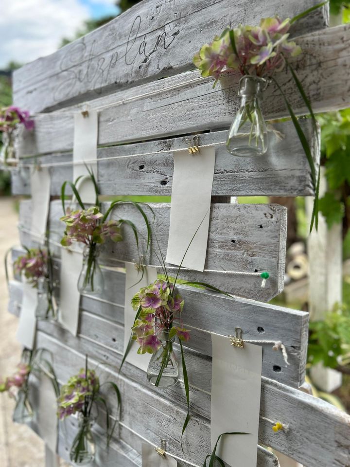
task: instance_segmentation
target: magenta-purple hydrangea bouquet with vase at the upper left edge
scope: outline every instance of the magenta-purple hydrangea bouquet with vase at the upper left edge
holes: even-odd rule
[[[31,120],[27,110],[10,106],[0,109],[0,131],[2,131],[2,143],[0,162],[4,165],[16,165],[15,130],[23,125],[27,130],[34,128],[34,120]]]

